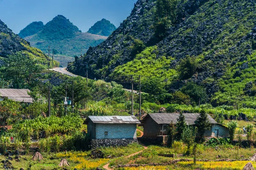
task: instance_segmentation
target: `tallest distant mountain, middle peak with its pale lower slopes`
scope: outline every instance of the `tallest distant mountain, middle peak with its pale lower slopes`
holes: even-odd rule
[[[41,31],[25,37],[33,47],[47,52],[48,46],[67,56],[80,55],[81,48],[86,51],[107,37],[83,33],[66,17],[58,15],[49,21]]]

